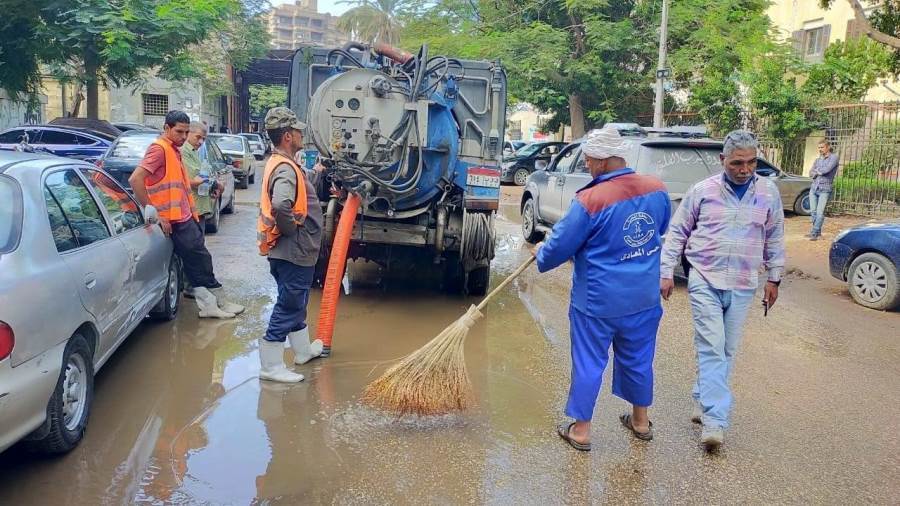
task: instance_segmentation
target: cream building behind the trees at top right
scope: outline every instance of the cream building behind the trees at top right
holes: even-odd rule
[[[867,2],[866,12],[873,7]],[[794,48],[810,63],[821,62],[825,49],[837,40],[852,40],[865,37],[856,21],[853,8],[843,0],[833,2],[823,9],[819,0],[775,0],[766,11],[783,39],[793,43]],[[880,81],[866,94],[869,101],[900,100],[900,84],[894,80]]]

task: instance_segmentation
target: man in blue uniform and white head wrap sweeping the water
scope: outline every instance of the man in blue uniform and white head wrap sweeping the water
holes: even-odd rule
[[[572,377],[566,414],[557,428],[573,448],[591,449],[591,419],[613,346],[612,392],[632,404],[619,417],[635,437],[653,439],[653,356],[662,317],[659,258],[670,204],[663,183],[627,167],[616,130],[593,130],[582,145],[594,178],[578,191],[546,243],[532,250],[546,272],[574,260],[569,322]]]

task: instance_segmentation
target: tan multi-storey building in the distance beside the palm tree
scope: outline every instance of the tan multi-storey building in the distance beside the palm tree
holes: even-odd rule
[[[343,46],[349,36],[337,29],[337,16],[318,11],[317,0],[296,0],[269,12],[272,48],[298,49],[301,45]]]

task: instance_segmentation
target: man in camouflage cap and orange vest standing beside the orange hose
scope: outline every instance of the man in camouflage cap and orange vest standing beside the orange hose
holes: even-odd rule
[[[290,340],[294,364],[322,355],[322,341],[309,342],[306,306],[322,243],[322,208],[315,187],[294,161],[303,147],[306,125],[287,107],[266,114],[266,132],[275,150],[263,172],[257,243],[269,258],[278,285],[278,300],[266,335],[259,340],[260,379],[297,383],[303,375],[284,364],[284,342]]]

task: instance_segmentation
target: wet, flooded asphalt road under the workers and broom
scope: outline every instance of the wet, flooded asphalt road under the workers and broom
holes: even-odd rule
[[[193,302],[182,300],[175,322],[142,325],[99,372],[76,450],[0,455],[0,503],[896,504],[900,497],[900,315],[854,305],[822,275],[827,244],[803,242],[800,218],[788,223],[799,263],[769,317],[760,309],[747,324],[724,448],[705,454],[688,420],[694,353],[679,285],[658,339],[654,441],[634,440],[619,426],[627,406],[606,383],[594,451],[584,454],[554,433],[568,387],[566,267],[526,272],[471,331],[466,355],[479,405],[465,414],[398,420],[358,403],[391,359],[473,302],[433,286],[385,291],[371,266],[352,268],[333,356],[299,367],[307,376],[299,385],[258,381],[255,340],[275,287],[256,253],[256,192],[239,191],[237,212],[208,237],[217,275],[246,314],[199,321]],[[494,283],[527,255],[519,193],[504,193]],[[315,293],[313,331],[318,304]]]

